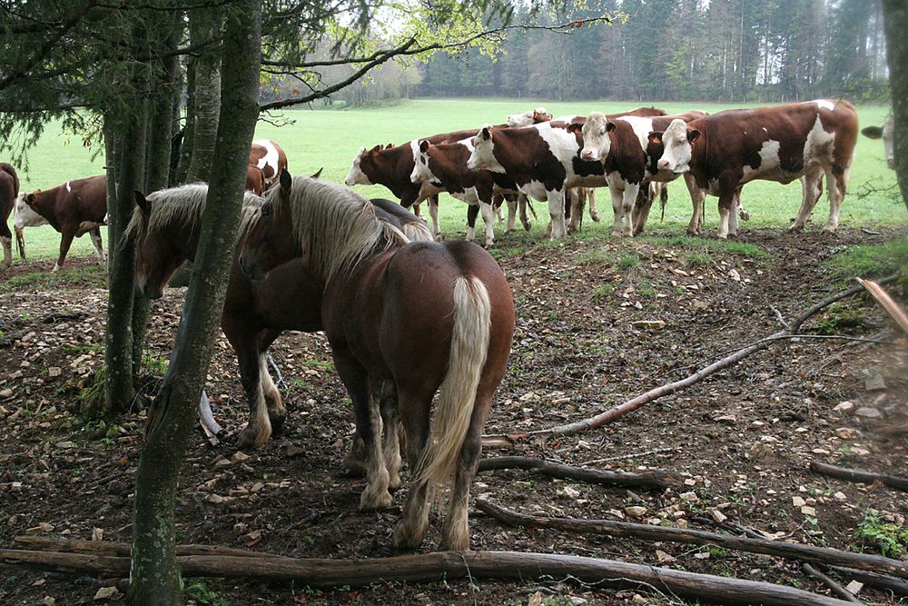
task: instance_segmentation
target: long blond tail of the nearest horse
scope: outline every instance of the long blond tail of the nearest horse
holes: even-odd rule
[[[447,487],[454,480],[460,449],[473,416],[480,374],[489,353],[491,313],[489,291],[479,278],[461,276],[454,282],[454,326],[448,373],[441,382],[438,410],[417,479],[427,482],[430,491],[437,486]]]

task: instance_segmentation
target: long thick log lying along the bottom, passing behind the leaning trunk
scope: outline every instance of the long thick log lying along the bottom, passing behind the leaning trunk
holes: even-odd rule
[[[184,577],[298,581],[316,589],[362,587],[379,581],[433,582],[455,579],[571,579],[597,587],[655,589],[723,604],[845,606],[785,585],[676,571],[625,561],[518,551],[447,551],[371,560],[294,559],[281,556],[179,556]],[[37,571],[119,576],[129,574],[125,557],[56,551],[0,550],[0,565]]]

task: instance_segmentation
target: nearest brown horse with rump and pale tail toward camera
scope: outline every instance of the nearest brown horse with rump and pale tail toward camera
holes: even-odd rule
[[[514,330],[514,303],[498,263],[473,243],[407,243],[359,194],[285,173],[247,232],[240,264],[253,279],[267,279],[291,259],[316,276],[321,298],[295,303],[320,308],[353,401],[366,453],[360,508],[391,502],[386,464],[393,473],[399,462],[383,458],[381,406],[370,397],[370,384],[391,381],[410,463],[410,497],[393,541],[419,545],[430,495],[453,484],[441,549],[469,549],[469,486]]]

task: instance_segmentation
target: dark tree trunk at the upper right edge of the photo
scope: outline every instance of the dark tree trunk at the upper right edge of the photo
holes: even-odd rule
[[[895,117],[895,174],[908,208],[908,5],[904,0],[883,0],[886,61]]]

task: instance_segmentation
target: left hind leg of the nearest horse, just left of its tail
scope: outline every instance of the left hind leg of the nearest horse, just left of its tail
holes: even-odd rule
[[[428,394],[398,393],[400,422],[407,437],[407,463],[410,465],[410,496],[403,515],[394,528],[392,540],[399,549],[418,547],[429,529],[429,485],[419,477],[419,462],[429,439],[429,411],[434,392]]]

